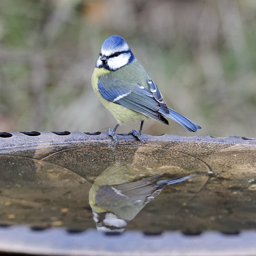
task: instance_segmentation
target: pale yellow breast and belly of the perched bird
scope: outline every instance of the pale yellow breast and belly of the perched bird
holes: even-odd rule
[[[104,107],[107,108],[108,111],[116,118],[117,123],[120,125],[134,124],[139,121],[148,119],[149,117],[143,114],[102,98],[98,89],[98,78],[109,73],[110,71],[108,69],[95,68],[92,74],[92,88]]]

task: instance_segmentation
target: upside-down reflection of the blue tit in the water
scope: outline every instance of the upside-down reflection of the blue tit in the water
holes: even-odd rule
[[[198,173],[161,180],[164,173],[142,178],[145,174],[128,165],[115,164],[108,167],[97,177],[89,192],[97,230],[122,233],[127,223],[159,195],[163,188],[196,174]]]

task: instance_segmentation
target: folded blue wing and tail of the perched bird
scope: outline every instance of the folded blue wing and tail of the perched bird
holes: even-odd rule
[[[148,80],[148,88],[149,90],[140,84],[128,83],[124,80],[116,81],[110,76],[101,76],[98,80],[99,92],[105,100],[130,108],[164,124],[169,124],[164,118],[168,116],[190,132],[201,129],[198,124],[168,108],[161,92],[152,80]]]

